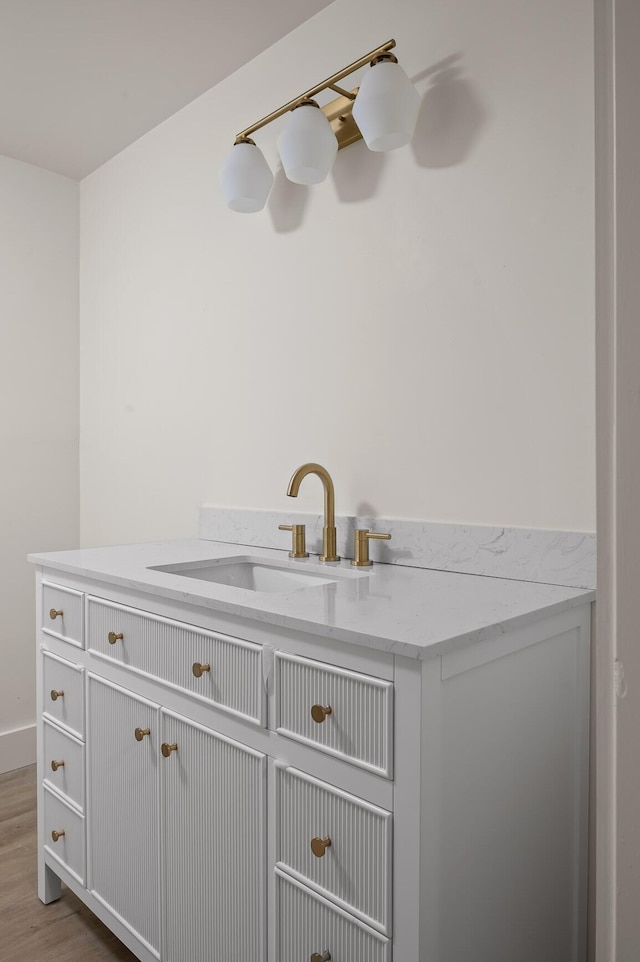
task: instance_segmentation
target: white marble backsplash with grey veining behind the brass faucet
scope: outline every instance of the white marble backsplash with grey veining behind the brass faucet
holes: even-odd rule
[[[291,534],[279,531],[279,524],[305,524],[307,551],[321,553],[322,515],[296,511],[204,505],[199,536],[208,541],[288,550]],[[592,533],[352,516],[337,517],[336,528],[338,553],[343,558],[353,558],[354,530],[368,528],[391,535],[391,541],[370,542],[371,559],[384,564],[576,588],[595,588],[596,584],[596,536]]]

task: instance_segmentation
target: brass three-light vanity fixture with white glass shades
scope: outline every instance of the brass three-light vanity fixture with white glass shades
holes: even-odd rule
[[[220,171],[220,186],[231,210],[253,213],[266,204],[273,174],[251,134],[288,112],[291,117],[278,140],[278,150],[286,176],[296,184],[319,184],[331,170],[337,151],[357,140],[364,138],[367,147],[376,151],[409,143],[420,96],[390,53],[395,45],[395,40],[387,40],[236,136]],[[371,69],[360,87],[345,90],[338,86],[366,64]],[[320,107],[313,98],[323,90],[339,96]]]

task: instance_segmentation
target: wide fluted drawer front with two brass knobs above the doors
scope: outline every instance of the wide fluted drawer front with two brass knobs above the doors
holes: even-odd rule
[[[105,658],[265,724],[260,645],[92,597],[87,639],[87,647]],[[194,675],[196,665],[204,670]]]

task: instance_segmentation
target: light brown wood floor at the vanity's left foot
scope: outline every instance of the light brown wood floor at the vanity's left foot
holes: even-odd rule
[[[97,962],[136,957],[62,886],[37,893],[36,768],[0,775],[0,962]]]

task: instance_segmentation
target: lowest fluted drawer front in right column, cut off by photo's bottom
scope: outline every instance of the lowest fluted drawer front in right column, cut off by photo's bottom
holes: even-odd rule
[[[278,962],[391,962],[391,943],[276,869]]]

